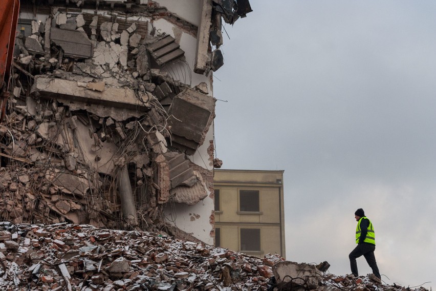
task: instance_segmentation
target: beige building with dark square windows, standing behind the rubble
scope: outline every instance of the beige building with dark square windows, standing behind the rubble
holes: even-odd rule
[[[215,245],[285,257],[284,171],[214,170]]]

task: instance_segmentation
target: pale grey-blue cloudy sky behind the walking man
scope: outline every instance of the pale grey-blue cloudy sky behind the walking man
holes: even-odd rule
[[[250,3],[214,74],[223,169],[285,170],[288,260],[349,274],[362,207],[382,279],[436,287],[436,1]]]

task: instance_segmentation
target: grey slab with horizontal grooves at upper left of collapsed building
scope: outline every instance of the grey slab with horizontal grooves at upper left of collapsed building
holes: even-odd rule
[[[65,56],[84,58],[92,56],[91,40],[81,31],[51,28],[50,39],[62,47]]]

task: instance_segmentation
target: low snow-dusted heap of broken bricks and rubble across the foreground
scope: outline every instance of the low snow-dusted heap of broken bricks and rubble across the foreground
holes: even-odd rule
[[[0,287],[8,291],[409,290],[375,277],[328,275],[318,269],[323,266],[271,254],[260,259],[156,233],[0,223]]]

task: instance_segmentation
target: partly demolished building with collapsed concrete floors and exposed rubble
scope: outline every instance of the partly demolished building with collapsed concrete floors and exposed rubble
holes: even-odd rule
[[[250,11],[247,0],[22,0],[0,219],[213,244],[212,72],[222,22]]]

